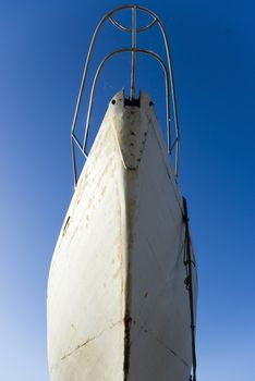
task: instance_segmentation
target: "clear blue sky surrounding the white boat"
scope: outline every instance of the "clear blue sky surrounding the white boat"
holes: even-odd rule
[[[122,3],[0,0],[1,380],[49,381],[46,286],[73,194],[70,127],[93,30]],[[198,381],[252,381],[254,4],[138,3],[158,14],[171,44],[180,184],[189,200],[199,270]],[[107,44],[120,47],[121,37],[110,39],[108,33],[98,45],[101,53]],[[146,47],[159,46],[158,37],[143,38]],[[112,61],[99,81],[94,134],[107,101],[129,83],[129,62]],[[155,100],[165,127],[161,73],[146,59],[139,64],[139,84]]]

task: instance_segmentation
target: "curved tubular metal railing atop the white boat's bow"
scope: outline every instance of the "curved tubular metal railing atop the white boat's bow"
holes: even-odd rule
[[[127,27],[122,25],[119,21],[116,20],[116,14],[120,11],[130,9],[132,11],[132,27]],[[151,16],[151,21],[142,27],[137,27],[136,19],[137,19],[137,10],[148,14]],[[80,142],[75,134],[76,130],[76,123],[77,123],[77,116],[81,108],[81,101],[83,97],[83,91],[84,91],[84,86],[86,83],[87,78],[87,73],[88,73],[88,67],[89,67],[89,62],[92,58],[92,53],[94,50],[95,41],[98,36],[99,30],[104,26],[105,22],[109,21],[112,25],[114,25],[117,28],[119,28],[122,32],[131,33],[132,34],[132,47],[131,48],[121,48],[118,50],[114,50],[110,52],[108,56],[104,58],[101,63],[99,64],[97,72],[94,77],[92,90],[90,90],[90,97],[89,97],[89,105],[88,105],[88,110],[87,110],[87,118],[86,118],[86,125],[85,125],[85,131],[84,131],[84,140],[83,143]],[[166,53],[167,53],[167,63],[154,51],[147,50],[147,49],[141,49],[137,47],[137,41],[136,37],[138,33],[143,33],[154,25],[159,25],[159,28],[161,30],[162,37],[163,37],[163,42],[165,42],[165,48],[166,48]],[[165,27],[161,23],[161,21],[158,19],[158,16],[149,11],[148,9],[141,7],[141,5],[121,5],[119,8],[116,8],[111,12],[107,13],[99,24],[97,25],[92,42],[88,49],[85,66],[84,66],[84,72],[83,72],[83,77],[82,77],[82,83],[78,91],[78,97],[77,97],[77,103],[74,112],[74,118],[73,118],[73,123],[72,123],[72,131],[71,131],[71,145],[72,145],[72,160],[73,160],[73,171],[74,171],[74,184],[76,185],[77,183],[77,168],[76,168],[76,156],[75,156],[75,145],[80,148],[82,153],[84,155],[85,159],[87,158],[88,153],[86,151],[86,146],[87,146],[87,138],[88,138],[88,132],[89,132],[89,125],[90,125],[90,116],[92,116],[92,109],[93,109],[93,102],[94,102],[94,94],[95,94],[95,87],[97,84],[97,79],[99,77],[99,74],[105,65],[105,63],[112,58],[113,56],[117,56],[122,52],[130,52],[132,54],[132,65],[131,65],[131,86],[130,86],[130,101],[135,100],[135,69],[136,69],[136,54],[137,53],[144,53],[147,56],[153,57],[156,59],[162,66],[163,72],[165,72],[165,79],[166,79],[166,109],[167,109],[167,132],[168,132],[168,153],[171,155],[173,148],[175,148],[175,176],[179,174],[179,150],[180,150],[180,133],[179,133],[179,122],[178,122],[178,112],[177,112],[177,100],[175,100],[175,89],[174,89],[174,81],[173,81],[173,71],[172,71],[172,61],[171,61],[171,54],[170,54],[170,47],[169,47],[169,40],[167,37],[167,33],[165,30]],[[171,105],[171,99],[170,99],[170,94],[172,97],[172,108],[173,108],[173,123],[175,126],[175,139],[173,143],[171,143],[171,125],[170,125],[170,105]]]

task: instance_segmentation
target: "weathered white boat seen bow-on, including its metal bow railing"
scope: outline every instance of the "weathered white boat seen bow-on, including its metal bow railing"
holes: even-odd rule
[[[116,17],[126,9],[132,14],[130,28]],[[141,29],[136,27],[138,12],[151,17]],[[132,47],[109,53],[99,65],[82,143],[75,125],[95,40],[106,21],[131,33]],[[163,35],[167,64],[157,53],[136,46],[137,33],[156,24]],[[98,75],[108,59],[123,52],[132,56],[130,97],[123,89],[112,97],[87,152]],[[135,98],[138,53],[156,59],[166,74],[167,144],[153,100],[142,90]],[[186,200],[178,184],[180,139],[169,42],[151,11],[123,5],[98,24],[71,142],[75,190],[48,280],[51,381],[195,381],[196,261]],[[80,175],[75,147],[85,157]],[[173,151],[174,168],[169,158]]]

